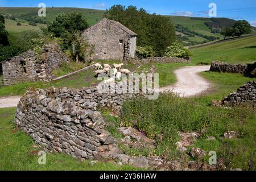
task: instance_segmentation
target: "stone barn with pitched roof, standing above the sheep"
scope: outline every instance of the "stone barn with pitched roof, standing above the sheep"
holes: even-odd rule
[[[135,57],[137,34],[114,20],[104,18],[82,32],[92,47],[86,60],[126,60]]]

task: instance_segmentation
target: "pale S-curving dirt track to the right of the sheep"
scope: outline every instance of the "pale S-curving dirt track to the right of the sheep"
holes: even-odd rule
[[[210,83],[198,73],[209,71],[210,66],[189,66],[176,69],[174,71],[177,82],[174,85],[160,88],[160,92],[165,90],[172,90],[179,94],[180,97],[196,96],[207,90]]]

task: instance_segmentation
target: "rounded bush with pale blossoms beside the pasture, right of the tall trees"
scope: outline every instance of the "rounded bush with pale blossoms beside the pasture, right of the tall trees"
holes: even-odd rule
[[[183,57],[185,59],[189,59],[191,56],[191,52],[182,46],[180,43],[172,43],[172,46],[166,48],[164,55],[166,57]]]

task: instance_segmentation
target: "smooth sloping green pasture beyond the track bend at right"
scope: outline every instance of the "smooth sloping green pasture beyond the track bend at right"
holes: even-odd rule
[[[210,46],[191,48],[192,63],[251,63],[256,61],[256,35]]]

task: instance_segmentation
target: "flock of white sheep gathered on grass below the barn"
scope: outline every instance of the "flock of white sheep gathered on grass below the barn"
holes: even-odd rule
[[[121,64],[114,64],[113,65],[113,72],[110,73],[111,67],[109,64],[104,64],[104,68],[102,67],[102,65],[100,63],[96,63],[94,64],[94,69],[96,69],[95,71],[95,75],[98,76],[100,74],[107,74],[110,75],[109,80],[105,80],[106,84],[109,84],[110,82],[115,82],[115,79],[120,80],[122,73],[128,75],[129,73],[131,73],[128,69],[121,69],[123,63]],[[103,68],[103,69],[102,69]],[[119,69],[119,70],[118,70]],[[113,77],[112,77],[113,76]]]

